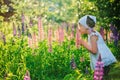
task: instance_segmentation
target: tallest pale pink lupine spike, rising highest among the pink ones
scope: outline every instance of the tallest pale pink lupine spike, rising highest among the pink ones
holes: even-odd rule
[[[44,40],[44,30],[43,30],[41,18],[38,18],[38,36],[39,36],[39,40]]]

